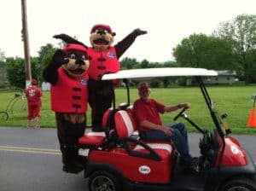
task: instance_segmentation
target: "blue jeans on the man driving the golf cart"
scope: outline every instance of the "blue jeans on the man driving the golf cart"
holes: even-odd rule
[[[188,133],[185,125],[183,123],[167,124],[166,127],[172,128],[172,136],[166,136],[166,133],[161,130],[150,130],[144,133],[144,140],[171,140],[176,146],[178,153],[180,153],[181,158],[190,162],[192,157],[189,154]]]

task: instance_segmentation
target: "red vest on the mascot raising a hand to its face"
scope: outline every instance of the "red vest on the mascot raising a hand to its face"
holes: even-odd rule
[[[57,83],[50,85],[51,109],[59,113],[85,113],[88,102],[87,80],[87,73],[74,79],[60,67]]]

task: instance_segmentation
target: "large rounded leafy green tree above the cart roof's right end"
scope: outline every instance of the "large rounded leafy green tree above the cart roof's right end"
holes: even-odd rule
[[[236,62],[230,41],[192,34],[184,38],[173,55],[180,67],[203,67],[207,69],[234,69]]]

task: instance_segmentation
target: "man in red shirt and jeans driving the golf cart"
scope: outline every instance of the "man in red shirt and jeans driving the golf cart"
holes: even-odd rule
[[[172,141],[180,154],[181,165],[185,169],[195,170],[197,159],[192,158],[189,153],[188,133],[185,125],[182,123],[163,125],[160,119],[160,113],[173,112],[183,107],[189,108],[190,103],[166,106],[149,98],[150,89],[146,82],[138,84],[138,94],[140,98],[134,102],[133,111],[143,140]]]

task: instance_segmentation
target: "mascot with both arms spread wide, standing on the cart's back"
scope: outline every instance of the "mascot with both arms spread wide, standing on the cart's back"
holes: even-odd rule
[[[119,57],[125,53],[137,36],[146,34],[147,32],[135,29],[122,41],[112,45],[115,32],[108,25],[96,25],[90,30],[90,44],[87,47],[84,43],[71,38],[66,34],[55,35],[67,43],[79,43],[88,49],[90,56],[89,75],[89,103],[91,107],[91,123],[92,130],[102,131],[103,113],[111,107],[113,99],[113,82],[101,80],[105,73],[118,72],[120,69]]]

